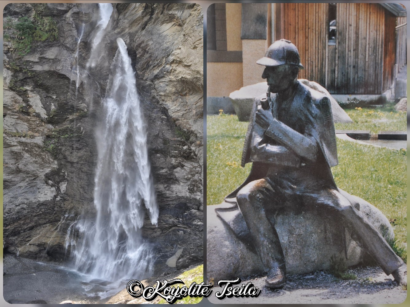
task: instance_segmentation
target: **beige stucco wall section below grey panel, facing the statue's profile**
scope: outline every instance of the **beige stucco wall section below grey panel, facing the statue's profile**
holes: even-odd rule
[[[265,55],[268,43],[266,39],[243,39],[243,86],[265,81],[262,73],[265,66],[256,64],[256,61]]]

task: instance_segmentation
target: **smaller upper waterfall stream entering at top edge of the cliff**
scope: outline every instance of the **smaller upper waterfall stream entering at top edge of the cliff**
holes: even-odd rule
[[[100,59],[101,52],[98,52],[98,49],[100,49],[100,43],[107,33],[107,26],[113,11],[111,3],[98,3],[98,8],[100,12],[100,19],[96,26],[96,34],[92,41],[91,56],[87,62],[87,67],[95,67]]]

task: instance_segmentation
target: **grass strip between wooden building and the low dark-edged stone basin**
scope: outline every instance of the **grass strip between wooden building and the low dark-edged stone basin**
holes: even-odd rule
[[[345,109],[353,123],[335,123],[338,130],[370,130],[371,134],[380,131],[407,131],[407,114],[395,111],[392,105],[370,109]]]

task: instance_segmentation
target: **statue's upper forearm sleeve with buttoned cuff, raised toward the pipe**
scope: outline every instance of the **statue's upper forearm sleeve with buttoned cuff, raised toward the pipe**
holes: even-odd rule
[[[314,162],[317,159],[319,149],[316,139],[312,135],[315,129],[307,127],[306,131],[310,133],[306,133],[306,135],[301,134],[281,121],[278,121],[276,118],[273,118],[265,134],[285,146],[285,148],[291,152],[294,152],[296,156],[301,159]]]

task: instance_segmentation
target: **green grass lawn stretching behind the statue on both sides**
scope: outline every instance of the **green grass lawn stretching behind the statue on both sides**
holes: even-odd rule
[[[364,109],[354,111],[358,114],[363,111],[368,112]],[[351,110],[353,113],[354,111]],[[403,117],[399,112],[396,114],[399,114],[398,118]],[[383,116],[390,116],[390,113]],[[357,119],[355,116],[351,118],[354,121]],[[358,115],[358,118],[361,116]],[[396,125],[386,123],[389,128],[383,127],[382,130],[406,130],[403,118],[398,119],[396,123],[399,128],[394,129]],[[404,127],[401,127],[403,123]],[[207,116],[207,205],[221,203],[223,198],[248,176],[251,164],[247,164],[245,168],[240,166],[247,127],[248,123],[239,122],[236,115]],[[367,127],[370,127],[369,123]],[[358,128],[338,127],[337,129],[364,130],[366,128],[358,125]],[[396,245],[402,249],[401,257],[405,257],[407,151],[378,148],[337,139],[337,153],[339,165],[332,168],[337,186],[367,200],[392,221]]]

